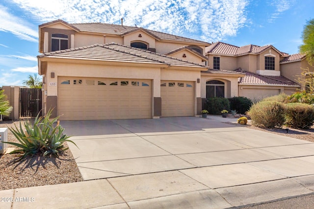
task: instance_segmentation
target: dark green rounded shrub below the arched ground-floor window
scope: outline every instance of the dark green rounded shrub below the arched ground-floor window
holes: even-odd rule
[[[220,111],[230,110],[230,103],[227,98],[223,97],[208,98],[206,102],[206,109],[210,115],[221,115]]]

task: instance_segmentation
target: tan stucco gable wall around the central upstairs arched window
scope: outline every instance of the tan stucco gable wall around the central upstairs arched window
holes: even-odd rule
[[[141,34],[142,37],[138,37]],[[144,31],[136,31],[134,33],[130,33],[125,35],[124,37],[124,45],[131,46],[131,42],[143,42],[147,44],[148,48],[155,48],[155,38],[151,35],[145,33]]]

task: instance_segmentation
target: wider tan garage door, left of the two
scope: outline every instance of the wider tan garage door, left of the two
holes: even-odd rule
[[[152,117],[151,80],[58,78],[61,120]]]

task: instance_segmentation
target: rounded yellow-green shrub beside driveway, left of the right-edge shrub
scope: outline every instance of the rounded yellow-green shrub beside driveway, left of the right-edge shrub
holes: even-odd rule
[[[256,126],[281,127],[285,123],[285,105],[277,101],[258,102],[250,108],[249,116]]]

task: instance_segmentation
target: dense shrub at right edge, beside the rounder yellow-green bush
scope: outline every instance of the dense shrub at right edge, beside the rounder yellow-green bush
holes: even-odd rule
[[[286,124],[291,128],[309,129],[314,123],[314,107],[310,104],[286,104]]]

